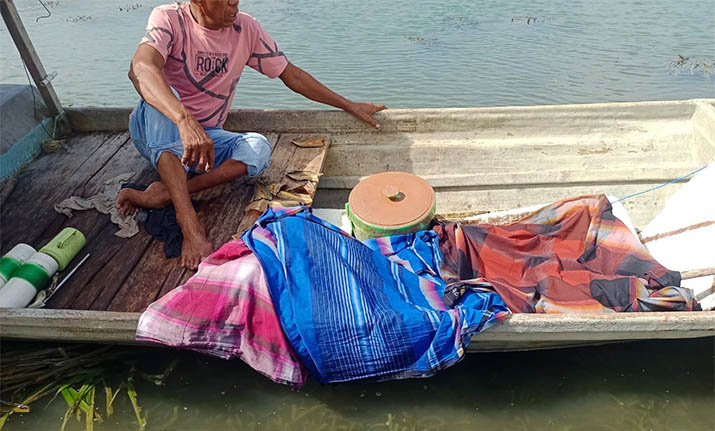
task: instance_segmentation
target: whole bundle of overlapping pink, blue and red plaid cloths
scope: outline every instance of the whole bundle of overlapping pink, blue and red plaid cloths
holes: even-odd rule
[[[510,310],[698,310],[679,284],[603,195],[365,242],[310,208],[270,208],[150,305],[137,339],[239,357],[296,387],[306,369],[324,383],[426,377]]]

